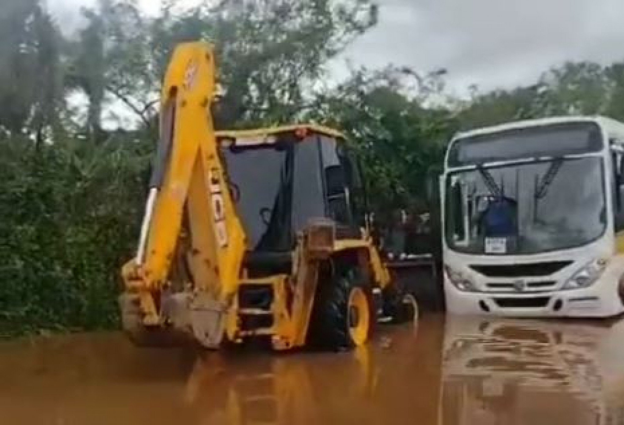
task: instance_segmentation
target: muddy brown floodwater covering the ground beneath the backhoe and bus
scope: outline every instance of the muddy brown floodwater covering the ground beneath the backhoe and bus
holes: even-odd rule
[[[428,316],[354,353],[0,344],[0,423],[624,424],[624,321]]]

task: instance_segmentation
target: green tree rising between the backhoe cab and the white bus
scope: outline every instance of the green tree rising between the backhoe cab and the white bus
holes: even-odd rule
[[[421,90],[409,97],[406,87],[414,77],[409,69],[359,71],[319,97],[311,114],[346,132],[363,164],[371,207],[378,212],[426,200],[427,183],[441,170],[444,147],[456,129],[451,110],[424,107],[439,95],[440,86],[434,84],[439,75],[417,76]]]

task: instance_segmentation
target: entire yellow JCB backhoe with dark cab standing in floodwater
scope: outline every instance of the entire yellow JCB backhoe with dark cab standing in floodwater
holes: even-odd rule
[[[134,260],[122,270],[125,330],[192,335],[207,348],[365,343],[379,318],[411,320],[363,219],[358,167],[314,125],[215,133],[212,47],[175,50]]]

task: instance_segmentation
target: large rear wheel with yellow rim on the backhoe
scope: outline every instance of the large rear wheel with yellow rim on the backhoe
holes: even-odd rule
[[[310,323],[311,343],[328,349],[351,349],[368,341],[375,316],[371,287],[356,268],[337,270],[319,282]]]

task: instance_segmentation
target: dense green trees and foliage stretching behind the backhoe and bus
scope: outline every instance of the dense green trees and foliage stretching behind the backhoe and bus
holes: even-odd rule
[[[526,87],[474,88],[470,99],[444,96],[444,72],[405,68],[362,69],[332,86],[331,59],[376,23],[371,0],[221,0],[185,11],[172,4],[147,17],[132,0],[100,0],[83,11],[78,31],[62,34],[39,1],[4,1],[0,335],[115,326],[158,88],[177,42],[217,46],[218,127],[316,120],[344,130],[381,215],[423,208],[427,178],[459,129],[558,114],[624,119],[624,62],[563,64]]]

